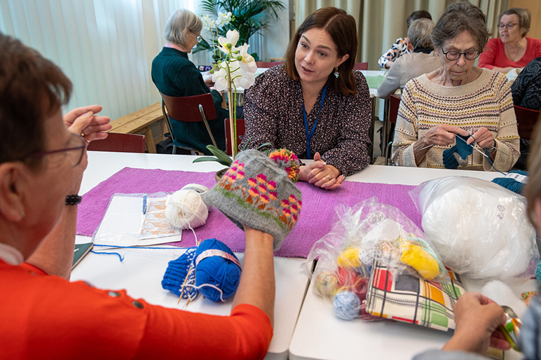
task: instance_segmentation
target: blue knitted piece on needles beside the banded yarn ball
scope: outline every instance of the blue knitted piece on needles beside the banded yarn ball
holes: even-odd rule
[[[167,270],[165,270],[165,274],[163,275],[163,289],[169,290],[177,296],[180,296],[180,289],[183,288],[182,285],[184,284],[184,280],[186,279],[186,275],[188,275],[188,271],[190,270],[190,266],[193,263],[193,258],[195,256],[196,248],[194,247],[186,250],[179,258],[169,262]],[[193,277],[195,277],[195,272],[192,271],[191,276],[186,283],[189,283],[190,279],[193,279]],[[196,293],[197,290],[193,287],[185,286],[184,289],[182,289],[182,298],[193,298],[193,296],[196,296]]]

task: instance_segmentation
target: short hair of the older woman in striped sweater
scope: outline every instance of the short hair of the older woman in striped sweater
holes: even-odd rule
[[[462,1],[447,6],[432,31],[434,49],[444,41],[455,39],[461,32],[469,32],[477,41],[477,50],[482,51],[491,36],[486,29],[486,16],[477,6],[469,1]]]

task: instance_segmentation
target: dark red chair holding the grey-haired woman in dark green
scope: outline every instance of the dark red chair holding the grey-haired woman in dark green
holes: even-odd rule
[[[189,123],[203,121],[210,139],[212,140],[212,144],[214,147],[218,147],[207,121],[207,118],[217,118],[216,108],[214,107],[214,102],[212,102],[212,95],[210,92],[203,95],[184,97],[167,96],[161,92],[160,95],[162,96],[163,117],[165,118],[165,122],[167,123],[167,127],[169,128],[169,132],[173,139],[173,153],[175,153],[176,148],[178,147],[202,154],[202,149],[193,148],[189,144],[183,144],[177,139],[178,134],[174,134],[174,127],[172,125],[174,124],[174,121],[185,121]]]

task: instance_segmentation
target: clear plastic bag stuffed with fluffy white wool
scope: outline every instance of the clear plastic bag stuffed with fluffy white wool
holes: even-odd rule
[[[526,199],[490,181],[447,176],[410,192],[445,265],[477,281],[525,282],[539,251]]]

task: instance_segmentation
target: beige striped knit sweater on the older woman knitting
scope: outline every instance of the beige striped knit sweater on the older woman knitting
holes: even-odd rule
[[[426,74],[409,81],[402,93],[392,144],[395,165],[415,167],[413,143],[439,124],[460,127],[470,134],[479,127],[490,130],[496,148],[501,150],[495,154],[494,167],[502,172],[509,171],[519,158],[519,134],[511,90],[504,74],[483,69],[475,81],[452,87],[437,85]],[[432,146],[418,166],[444,167],[444,150],[453,145]],[[467,157],[467,163],[459,169],[492,169],[478,151]]]

